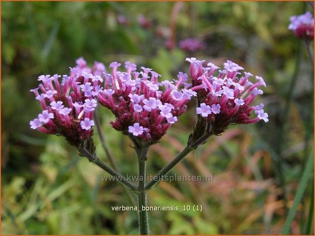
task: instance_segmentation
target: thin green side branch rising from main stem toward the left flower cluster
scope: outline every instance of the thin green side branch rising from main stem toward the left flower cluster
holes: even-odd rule
[[[137,191],[137,187],[134,186],[131,182],[129,182],[125,177],[123,177],[120,173],[112,170],[107,164],[105,164],[103,161],[101,161],[95,154],[91,154],[87,149],[85,148],[78,148],[78,151],[88,157],[88,159],[93,162],[94,164],[101,167],[104,171],[106,171],[111,176],[115,177],[115,180],[121,183],[124,187],[127,189],[130,189],[132,191]]]

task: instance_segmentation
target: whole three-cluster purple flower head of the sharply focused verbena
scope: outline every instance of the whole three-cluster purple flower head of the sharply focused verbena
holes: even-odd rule
[[[261,77],[256,82],[248,79],[238,64],[227,61],[224,69],[204,60],[187,58],[190,62],[191,82],[188,75],[179,72],[177,80],[159,82],[158,73],[150,68],[125,62],[112,62],[111,73],[104,64],[95,62],[92,68],[83,58],[76,60],[70,75],[42,75],[38,88],[32,89],[43,111],[30,122],[31,128],[49,134],[59,134],[71,145],[79,146],[93,135],[94,110],[98,103],[108,108],[116,120],[111,126],[128,135],[135,144],[148,146],[158,142],[166,130],[187,109],[187,103],[197,98],[198,119],[211,123],[213,134],[223,132],[230,123],[248,124],[268,121],[264,105],[252,106],[257,95],[263,94],[259,86],[266,86]],[[256,114],[251,118],[251,111]]]

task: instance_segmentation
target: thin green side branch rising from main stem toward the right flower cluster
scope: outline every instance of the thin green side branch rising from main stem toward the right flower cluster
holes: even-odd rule
[[[146,185],[146,190],[150,190],[153,188],[156,184],[160,182],[163,176],[165,176],[172,168],[174,168],[175,165],[177,165],[182,159],[184,159],[185,156],[187,156],[188,153],[190,153],[194,148],[186,146],[185,149],[178,154],[175,159],[173,159],[171,162],[169,162],[167,165],[165,165],[162,170],[160,170],[153,179]]]

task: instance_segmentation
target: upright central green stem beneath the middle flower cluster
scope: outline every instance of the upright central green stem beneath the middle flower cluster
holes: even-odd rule
[[[149,148],[136,149],[138,155],[138,213],[139,213],[139,231],[141,235],[149,234],[148,211],[142,211],[142,207],[147,207],[146,196],[146,162]]]

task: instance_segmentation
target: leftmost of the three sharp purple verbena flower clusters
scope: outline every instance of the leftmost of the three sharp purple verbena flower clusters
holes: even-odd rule
[[[70,75],[41,75],[42,83],[34,92],[43,111],[30,122],[32,129],[64,136],[74,146],[79,146],[93,135],[93,113],[97,108],[97,95],[103,82],[105,66],[95,62],[87,66],[83,58],[76,60]]]

